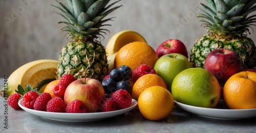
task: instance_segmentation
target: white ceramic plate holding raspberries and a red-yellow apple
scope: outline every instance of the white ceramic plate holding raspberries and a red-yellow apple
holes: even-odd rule
[[[26,108],[22,100],[18,101],[18,105],[20,108],[25,110],[26,112],[41,116],[46,119],[56,120],[56,121],[66,121],[66,122],[88,122],[88,121],[98,121],[106,118],[118,116],[133,110],[137,106],[137,101],[132,99],[131,106],[126,109],[111,111],[111,112],[99,112],[99,113],[53,113],[53,112],[45,112],[45,111],[36,111],[32,109]]]

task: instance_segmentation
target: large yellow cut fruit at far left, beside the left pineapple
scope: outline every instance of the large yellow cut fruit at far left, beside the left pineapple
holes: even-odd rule
[[[56,79],[57,66],[57,60],[48,59],[36,60],[20,66],[8,77],[7,86],[0,92],[1,96],[7,98],[16,93],[18,85],[26,88],[28,84],[43,92],[45,86]]]

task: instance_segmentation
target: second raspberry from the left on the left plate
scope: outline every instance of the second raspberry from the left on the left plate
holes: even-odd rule
[[[45,92],[45,93],[40,94],[35,100],[34,110],[46,111],[46,105],[47,105],[48,101],[51,99],[52,99],[52,96],[50,93]]]

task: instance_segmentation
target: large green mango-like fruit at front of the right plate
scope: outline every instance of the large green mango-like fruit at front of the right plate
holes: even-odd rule
[[[188,68],[173,81],[175,101],[196,107],[215,108],[221,97],[221,87],[214,74],[203,68]]]

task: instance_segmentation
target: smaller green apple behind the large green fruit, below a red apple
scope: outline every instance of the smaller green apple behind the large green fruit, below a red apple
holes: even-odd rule
[[[181,71],[191,68],[188,59],[177,53],[167,54],[160,57],[155,63],[156,74],[163,78],[167,89],[171,92],[174,77]]]

